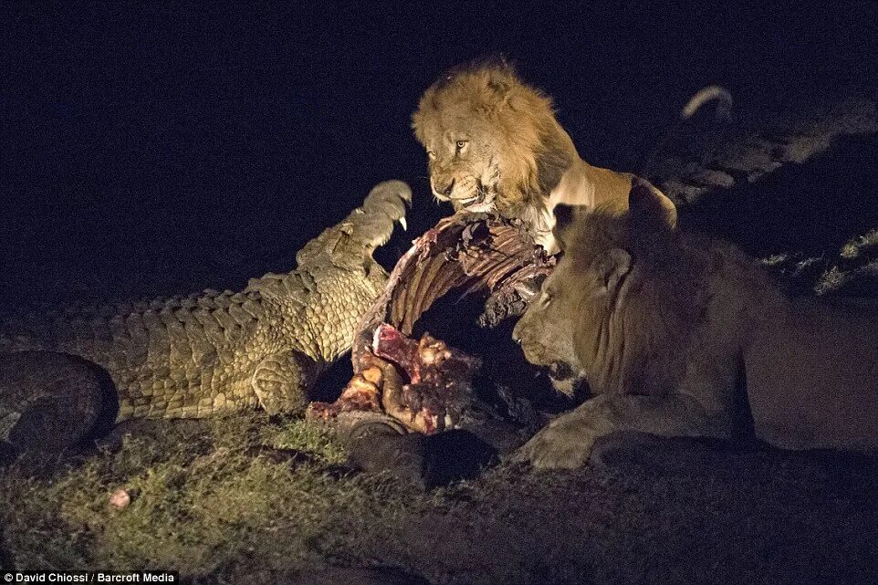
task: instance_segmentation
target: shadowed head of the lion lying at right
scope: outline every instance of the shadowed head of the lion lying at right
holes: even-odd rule
[[[594,392],[635,392],[656,377],[666,385],[662,362],[685,339],[696,279],[664,254],[675,212],[647,184],[632,189],[630,214],[556,208],[564,254],[513,332],[527,360],[553,378],[566,369]],[[671,277],[656,277],[653,256]]]

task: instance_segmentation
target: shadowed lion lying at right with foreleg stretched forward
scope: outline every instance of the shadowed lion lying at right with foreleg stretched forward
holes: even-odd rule
[[[669,203],[635,181],[625,213],[556,210],[564,254],[513,337],[593,397],[514,458],[573,468],[614,432],[729,440],[742,421],[784,449],[878,449],[878,302],[789,298]]]

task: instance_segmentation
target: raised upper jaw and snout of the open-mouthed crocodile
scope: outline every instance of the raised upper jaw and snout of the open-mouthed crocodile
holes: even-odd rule
[[[361,207],[340,224],[323,231],[296,255],[298,266],[329,255],[335,266],[361,265],[365,257],[390,240],[393,225],[405,225],[405,208],[412,203],[412,189],[402,181],[384,181],[372,187]]]

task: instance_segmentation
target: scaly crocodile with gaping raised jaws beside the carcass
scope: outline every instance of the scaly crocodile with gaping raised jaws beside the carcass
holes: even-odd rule
[[[6,317],[0,442],[26,446],[45,432],[50,413],[73,404],[65,439],[89,434],[100,416],[102,373],[118,396],[116,423],[256,408],[303,412],[309,388],[350,350],[358,320],[381,295],[388,274],[372,252],[394,222],[404,227],[411,201],[406,183],[379,183],[361,207],[299,250],[295,270],[252,278],[239,292]]]

